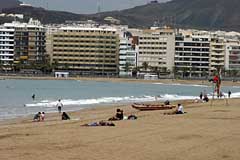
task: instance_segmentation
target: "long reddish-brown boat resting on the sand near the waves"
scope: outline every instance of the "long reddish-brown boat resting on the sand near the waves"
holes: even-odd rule
[[[140,111],[168,110],[173,109],[174,105],[157,105],[157,104],[132,104],[132,107]]]

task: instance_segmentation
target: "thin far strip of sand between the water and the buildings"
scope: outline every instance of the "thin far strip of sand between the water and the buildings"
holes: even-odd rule
[[[69,78],[55,78],[55,77],[25,77],[25,76],[0,76],[0,80],[82,80],[82,81],[104,81],[104,82],[128,82],[128,83],[164,83],[164,84],[193,84],[193,85],[207,85],[211,86],[208,80],[181,80],[181,79],[158,79],[158,80],[144,80],[131,78],[104,78],[104,77],[69,77]],[[240,86],[240,82],[222,81],[222,86]]]

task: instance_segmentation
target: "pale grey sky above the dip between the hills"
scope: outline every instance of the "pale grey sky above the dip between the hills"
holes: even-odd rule
[[[30,3],[36,7],[43,7],[50,10],[89,14],[96,13],[98,11],[98,6],[101,6],[100,10],[101,12],[104,12],[144,5],[150,2],[151,0],[20,0],[20,1],[24,3]],[[165,2],[167,0],[158,1]]]

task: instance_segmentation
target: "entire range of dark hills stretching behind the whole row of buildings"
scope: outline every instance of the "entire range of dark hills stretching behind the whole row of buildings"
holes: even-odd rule
[[[157,22],[160,25],[174,25],[181,28],[240,31],[239,0],[172,0],[92,15],[48,11],[33,7],[15,7],[5,9],[4,12],[21,13],[26,17],[37,18],[43,23],[64,23],[65,20],[86,19],[103,22],[105,17],[111,16],[130,27],[149,27]]]

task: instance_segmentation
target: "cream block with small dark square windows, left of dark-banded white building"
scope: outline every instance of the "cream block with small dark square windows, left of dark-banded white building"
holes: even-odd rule
[[[137,33],[137,32],[136,32]],[[175,32],[170,28],[157,28],[137,33],[139,55],[137,66],[147,63],[162,71],[171,71],[174,67]]]

